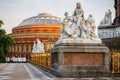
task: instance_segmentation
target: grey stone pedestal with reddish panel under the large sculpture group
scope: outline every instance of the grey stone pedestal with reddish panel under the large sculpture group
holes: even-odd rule
[[[51,54],[50,72],[56,76],[110,76],[109,49],[103,44],[62,43]]]

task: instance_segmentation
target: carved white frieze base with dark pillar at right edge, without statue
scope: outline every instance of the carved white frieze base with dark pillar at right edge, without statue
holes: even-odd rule
[[[98,34],[110,49],[120,50],[120,0],[114,2],[116,17],[111,25],[100,25]]]

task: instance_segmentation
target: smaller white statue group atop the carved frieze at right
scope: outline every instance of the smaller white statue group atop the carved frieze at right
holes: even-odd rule
[[[112,12],[108,9],[108,12],[105,12],[105,16],[103,20],[101,20],[99,26],[109,26],[112,24],[112,17],[111,17]]]

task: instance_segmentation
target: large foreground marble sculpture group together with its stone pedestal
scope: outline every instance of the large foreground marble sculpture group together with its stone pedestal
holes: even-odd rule
[[[109,76],[109,49],[97,35],[92,15],[85,19],[81,4],[65,12],[61,36],[51,50],[50,72],[63,77]]]

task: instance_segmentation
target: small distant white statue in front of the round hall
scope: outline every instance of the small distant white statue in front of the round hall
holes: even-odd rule
[[[32,53],[45,53],[44,44],[39,39],[36,39],[36,42],[34,41]]]

